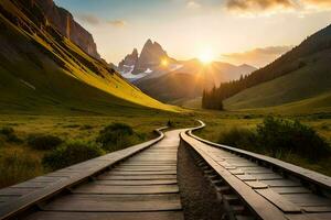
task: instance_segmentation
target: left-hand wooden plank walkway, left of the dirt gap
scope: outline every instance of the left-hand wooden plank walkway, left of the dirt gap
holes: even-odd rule
[[[183,219],[177,183],[177,151],[181,130],[170,131],[160,142],[95,175],[87,183],[68,187],[63,195],[39,202],[19,219],[103,220]],[[114,154],[114,153],[113,153]],[[110,154],[111,155],[111,154]],[[106,155],[107,156],[107,155]],[[114,156],[114,155],[113,155]],[[105,160],[105,157],[104,157]],[[75,165],[0,190],[1,205],[35,195],[50,182],[71,178],[71,172],[100,165],[103,158]],[[109,161],[106,160],[106,163]],[[24,195],[21,195],[24,193]],[[31,212],[31,211],[30,211]]]

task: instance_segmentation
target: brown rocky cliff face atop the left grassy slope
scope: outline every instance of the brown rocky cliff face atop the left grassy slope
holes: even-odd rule
[[[29,0],[31,4],[38,4],[44,12],[44,16],[62,35],[68,37],[90,56],[100,59],[96,44],[90,33],[82,28],[73,15],[63,8],[57,7],[53,0]]]

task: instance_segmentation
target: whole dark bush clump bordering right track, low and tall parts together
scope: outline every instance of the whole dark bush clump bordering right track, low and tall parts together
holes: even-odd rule
[[[221,133],[218,143],[258,153],[267,153],[274,157],[296,154],[307,160],[327,158],[331,150],[325,140],[313,129],[299,121],[265,118],[257,125],[256,132],[247,129],[232,129]]]

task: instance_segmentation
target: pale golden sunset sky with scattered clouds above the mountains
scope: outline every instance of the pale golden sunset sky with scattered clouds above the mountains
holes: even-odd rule
[[[261,67],[331,24],[331,0],[55,0],[118,64],[148,38],[177,59]]]

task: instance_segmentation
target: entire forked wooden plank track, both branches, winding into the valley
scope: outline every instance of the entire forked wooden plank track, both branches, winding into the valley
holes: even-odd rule
[[[331,178],[174,130],[0,190],[0,220],[181,220],[181,144],[217,194],[220,219],[331,219]]]

